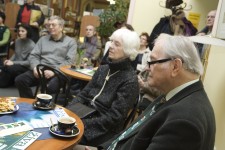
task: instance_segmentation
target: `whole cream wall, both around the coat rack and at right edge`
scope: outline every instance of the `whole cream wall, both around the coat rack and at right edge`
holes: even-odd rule
[[[217,8],[218,0],[184,0],[193,6],[189,12],[199,13],[200,23],[198,29],[205,25],[205,18],[210,10]],[[157,0],[131,0],[132,11],[129,12],[128,23],[132,24],[135,31],[151,33],[159,19],[171,12],[159,6]],[[186,15],[189,14],[186,12]],[[205,90],[213,105],[216,116],[216,149],[225,149],[225,50],[221,47],[212,46],[208,60],[208,67],[205,74]]]

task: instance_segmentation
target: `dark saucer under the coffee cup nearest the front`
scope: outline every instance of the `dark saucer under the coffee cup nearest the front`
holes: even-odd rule
[[[71,134],[65,134],[65,132],[58,130],[57,124],[54,124],[51,127],[49,127],[49,131],[52,134],[60,136],[60,137],[75,137],[80,133],[80,130],[76,126],[74,126]]]

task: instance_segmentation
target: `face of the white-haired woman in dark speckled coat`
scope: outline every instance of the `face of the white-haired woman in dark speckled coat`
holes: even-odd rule
[[[123,51],[123,43],[121,39],[112,39],[109,47],[109,56],[112,61],[124,59],[125,53]]]

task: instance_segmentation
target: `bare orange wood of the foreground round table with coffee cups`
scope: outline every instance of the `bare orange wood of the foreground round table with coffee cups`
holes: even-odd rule
[[[17,103],[21,103],[21,102],[26,102],[29,104],[32,104],[34,102],[34,99],[28,99],[28,98],[18,98],[16,100]],[[61,106],[57,106],[57,107],[61,107]],[[84,125],[83,122],[81,121],[81,119],[74,114],[73,112],[71,112],[70,110],[61,107],[64,109],[64,111],[71,117],[76,119],[77,122],[77,127],[80,129],[80,134],[77,135],[74,138],[50,138],[50,139],[45,139],[45,140],[37,140],[34,143],[32,143],[27,150],[62,150],[62,149],[73,149],[74,145],[77,144],[83,133],[84,133]]]

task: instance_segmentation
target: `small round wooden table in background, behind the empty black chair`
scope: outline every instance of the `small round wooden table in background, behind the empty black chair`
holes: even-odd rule
[[[80,80],[84,80],[84,81],[90,81],[92,79],[91,76],[89,75],[85,75],[83,73],[79,73],[73,70],[70,70],[71,66],[61,66],[59,69],[65,73],[66,75],[75,78],[75,79],[80,79]]]

